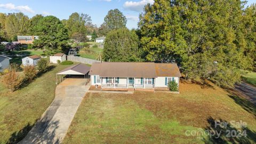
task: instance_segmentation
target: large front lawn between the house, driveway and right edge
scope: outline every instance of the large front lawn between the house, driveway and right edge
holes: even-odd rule
[[[255,106],[238,104],[235,96],[217,86],[190,83],[180,84],[180,94],[88,93],[63,143],[255,143]],[[242,121],[247,127],[215,127],[215,120]],[[246,130],[247,136],[225,137],[233,129]],[[200,133],[220,130],[219,139]]]

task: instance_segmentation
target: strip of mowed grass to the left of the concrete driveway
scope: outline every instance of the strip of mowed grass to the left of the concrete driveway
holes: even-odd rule
[[[68,67],[54,65],[20,90],[11,93],[0,77],[0,143],[15,143],[26,136],[55,97],[55,74]]]

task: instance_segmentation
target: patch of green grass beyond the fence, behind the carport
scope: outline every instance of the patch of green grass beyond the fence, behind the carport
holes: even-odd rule
[[[99,47],[86,47],[79,50],[78,56],[88,59],[99,59],[102,51],[103,49],[100,49]]]

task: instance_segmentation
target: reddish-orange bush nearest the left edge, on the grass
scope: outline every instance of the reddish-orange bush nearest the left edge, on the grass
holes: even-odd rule
[[[10,89],[11,92],[14,92],[21,85],[21,79],[14,69],[8,71],[8,73],[4,76],[3,83],[7,89]]]

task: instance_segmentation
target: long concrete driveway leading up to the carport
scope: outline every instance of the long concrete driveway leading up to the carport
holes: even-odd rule
[[[65,79],[56,87],[55,99],[42,118],[19,143],[60,143],[89,88],[83,78]]]

